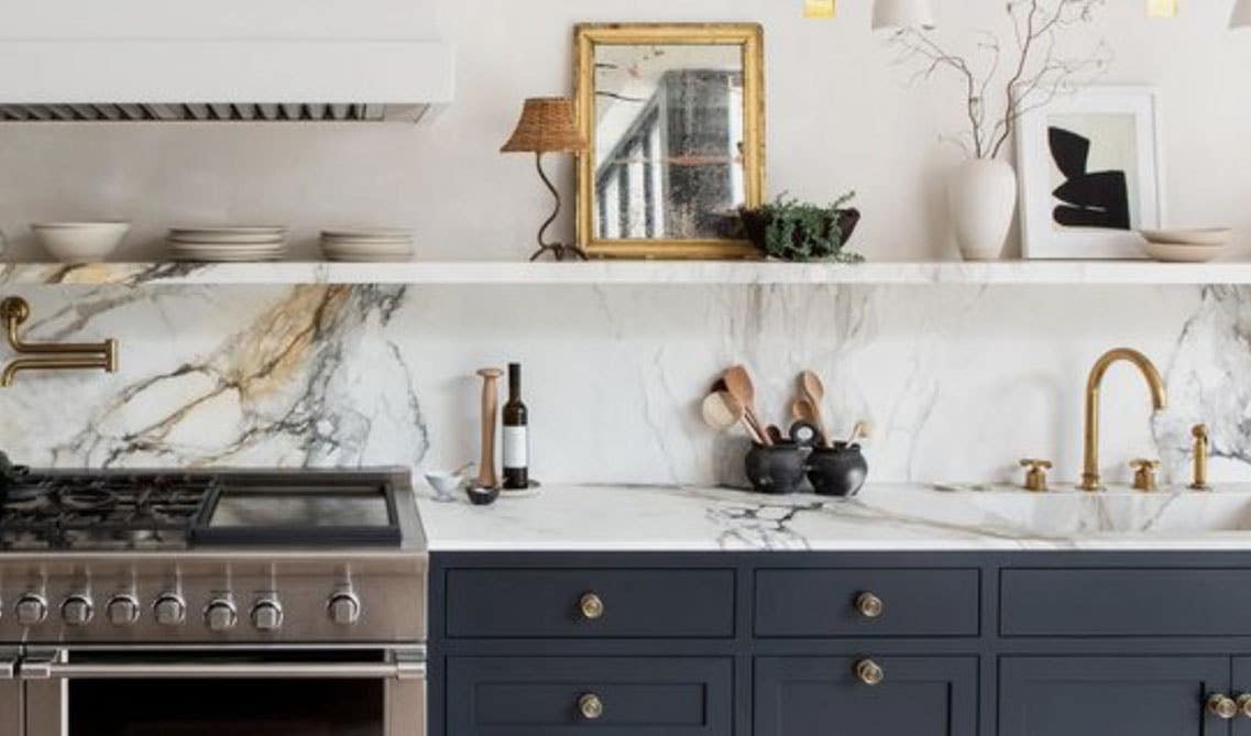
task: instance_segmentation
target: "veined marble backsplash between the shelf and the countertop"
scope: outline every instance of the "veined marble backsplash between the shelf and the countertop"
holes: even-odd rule
[[[1105,389],[1103,464],[1187,472],[1212,426],[1220,481],[1251,479],[1251,290],[1197,287],[100,287],[10,289],[31,339],[121,344],[115,376],[25,374],[0,448],[40,466],[405,464],[477,454],[473,372],[525,365],[547,481],[739,483],[741,437],[697,402],[742,362],[766,421],[822,373],[837,431],[874,426],[873,478],[1002,481],[1021,457],[1077,476],[1086,373],[1128,345],[1167,374],[1150,416],[1130,368]]]

